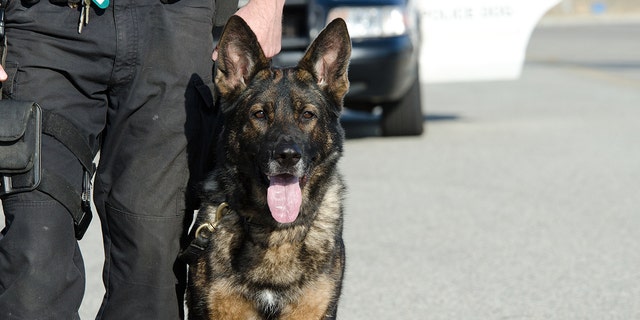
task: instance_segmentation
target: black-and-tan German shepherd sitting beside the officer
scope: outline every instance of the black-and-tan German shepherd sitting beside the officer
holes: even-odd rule
[[[271,67],[237,16],[218,50],[223,120],[194,225],[208,243],[189,268],[189,318],[335,319],[345,265],[337,163],[346,24],[331,22],[296,67]]]

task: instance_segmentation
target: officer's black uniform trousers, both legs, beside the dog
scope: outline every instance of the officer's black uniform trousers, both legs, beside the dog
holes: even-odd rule
[[[98,318],[181,316],[185,195],[201,179],[213,127],[214,8],[214,0],[111,0],[91,8],[79,34],[79,8],[10,1],[5,98],[67,117],[100,151],[94,201],[106,294]],[[80,190],[82,167],[63,145],[45,136],[42,159]],[[0,319],[78,318],[85,275],[70,214],[37,190],[2,204]]]

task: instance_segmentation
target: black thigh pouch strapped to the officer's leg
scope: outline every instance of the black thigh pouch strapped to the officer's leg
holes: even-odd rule
[[[42,109],[37,103],[0,100],[0,196],[38,187],[41,139]]]

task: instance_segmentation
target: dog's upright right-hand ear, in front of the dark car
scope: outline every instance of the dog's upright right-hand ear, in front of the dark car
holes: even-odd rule
[[[298,67],[314,75],[320,88],[339,106],[349,90],[347,69],[351,57],[351,39],[347,24],[338,18],[327,25],[311,43]]]

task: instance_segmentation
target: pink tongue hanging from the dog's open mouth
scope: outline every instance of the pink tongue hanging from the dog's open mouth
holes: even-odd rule
[[[271,183],[267,189],[267,203],[271,216],[276,221],[294,222],[302,204],[302,191],[298,178],[291,175],[271,177]]]

